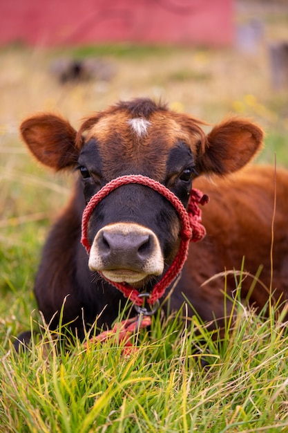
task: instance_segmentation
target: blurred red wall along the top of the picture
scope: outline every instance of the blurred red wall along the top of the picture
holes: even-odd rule
[[[233,42],[233,0],[0,0],[0,44]]]

